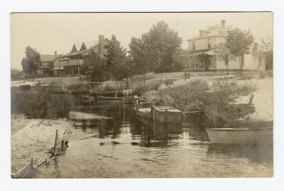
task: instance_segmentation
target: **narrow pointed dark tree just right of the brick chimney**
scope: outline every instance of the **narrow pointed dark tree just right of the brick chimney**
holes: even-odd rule
[[[116,81],[121,81],[129,76],[131,63],[126,57],[126,49],[121,46],[119,40],[112,35],[106,55],[107,67],[111,76]]]

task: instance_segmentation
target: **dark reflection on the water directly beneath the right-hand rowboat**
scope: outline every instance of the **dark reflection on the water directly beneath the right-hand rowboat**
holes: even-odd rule
[[[207,154],[230,154],[256,163],[273,163],[273,144],[210,144]]]

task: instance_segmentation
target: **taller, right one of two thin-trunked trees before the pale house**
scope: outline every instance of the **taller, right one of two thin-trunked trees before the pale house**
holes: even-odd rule
[[[240,30],[235,28],[234,30],[229,30],[228,36],[226,38],[226,45],[229,48],[231,54],[239,57],[240,69],[242,74],[243,64],[244,64],[244,54],[249,54],[249,47],[253,43],[253,35],[250,30]]]

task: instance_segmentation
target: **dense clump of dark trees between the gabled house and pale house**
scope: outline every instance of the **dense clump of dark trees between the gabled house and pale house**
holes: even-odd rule
[[[141,37],[132,37],[129,50],[112,35],[107,54],[102,58],[90,51],[80,74],[90,76],[91,81],[120,81],[135,74],[180,71],[181,43],[182,37],[164,21],[153,25]]]

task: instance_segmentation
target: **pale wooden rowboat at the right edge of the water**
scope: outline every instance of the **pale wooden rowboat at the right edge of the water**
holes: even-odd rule
[[[273,128],[206,129],[213,144],[263,144],[273,142]]]

